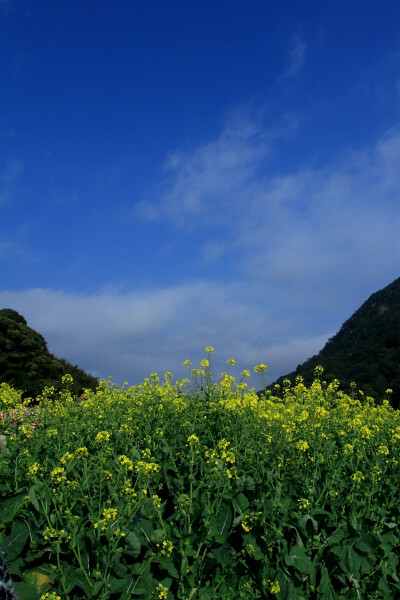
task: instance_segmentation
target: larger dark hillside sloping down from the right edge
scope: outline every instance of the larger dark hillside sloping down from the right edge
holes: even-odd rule
[[[308,385],[317,365],[324,368],[325,381],[339,379],[344,391],[355,381],[358,389],[380,401],[390,388],[393,406],[400,406],[400,277],[372,294],[319,354],[269,389],[284,379],[294,381],[297,375]]]

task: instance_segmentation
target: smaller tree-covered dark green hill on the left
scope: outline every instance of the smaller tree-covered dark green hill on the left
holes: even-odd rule
[[[11,308],[0,310],[0,383],[22,390],[25,397],[36,397],[45,386],[59,386],[66,373],[74,379],[76,394],[98,385],[96,377],[51,354],[44,337],[28,327],[22,315]]]

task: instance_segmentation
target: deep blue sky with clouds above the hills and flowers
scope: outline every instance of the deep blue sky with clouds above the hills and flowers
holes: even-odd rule
[[[118,383],[317,353],[399,276],[399,25],[391,0],[0,0],[0,307]]]

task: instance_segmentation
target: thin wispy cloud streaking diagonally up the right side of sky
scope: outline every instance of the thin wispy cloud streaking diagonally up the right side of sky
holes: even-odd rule
[[[260,295],[274,290],[268,297],[287,311],[311,314],[338,302],[345,309],[356,290],[372,292],[371,281],[384,285],[397,274],[400,133],[392,129],[322,167],[271,175],[285,134],[245,121],[172,153],[164,195],[149,209],[178,227],[218,228],[218,244],[205,246],[203,260],[234,248],[234,277],[263,288]],[[343,288],[339,300],[335,286]]]

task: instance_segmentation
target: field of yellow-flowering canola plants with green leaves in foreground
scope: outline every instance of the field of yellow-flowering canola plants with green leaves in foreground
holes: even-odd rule
[[[33,408],[0,386],[0,549],[22,600],[400,597],[400,413],[320,367],[259,398],[212,355],[79,399],[67,375]]]

